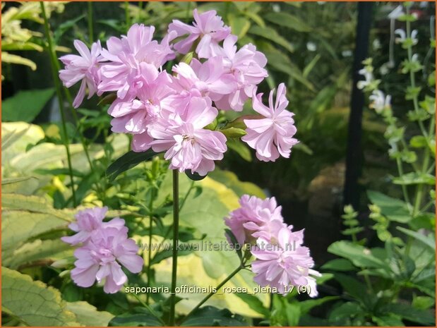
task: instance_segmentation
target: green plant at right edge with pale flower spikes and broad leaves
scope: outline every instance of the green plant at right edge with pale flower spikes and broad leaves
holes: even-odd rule
[[[322,268],[336,272],[335,278],[352,300],[335,305],[328,319],[330,324],[435,324],[431,308],[436,298],[436,217],[429,210],[435,208],[436,105],[435,99],[427,95],[427,89],[435,86],[435,72],[429,75],[427,85],[417,84],[416,74],[422,65],[413,55],[417,41],[411,25],[417,18],[409,12],[409,6],[406,4],[406,12],[397,18],[406,25],[407,37],[398,41],[407,55],[400,73],[409,80],[405,91],[405,99],[412,107],[407,113],[408,121],[396,116],[390,96],[378,90],[384,80],[373,78],[371,59],[364,61],[361,73],[365,80],[359,83],[365,92],[372,92],[369,107],[387,126],[385,139],[398,170],[391,182],[402,189],[403,199],[371,190],[367,193],[371,201],[369,218],[374,222],[370,228],[376,231],[382,247],[369,248],[365,238],[358,240],[357,233],[363,226],[357,220],[357,212],[345,207],[343,219],[348,228],[343,233],[352,236],[352,241],[330,245],[328,251],[342,259],[330,261]],[[434,40],[431,47],[435,47]],[[362,276],[366,284],[352,274]]]

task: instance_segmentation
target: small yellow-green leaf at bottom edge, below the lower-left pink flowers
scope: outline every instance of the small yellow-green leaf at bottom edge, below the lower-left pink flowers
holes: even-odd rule
[[[84,301],[68,302],[66,308],[76,315],[77,322],[83,326],[107,327],[109,321],[114,317],[109,312],[97,311],[95,306]]]

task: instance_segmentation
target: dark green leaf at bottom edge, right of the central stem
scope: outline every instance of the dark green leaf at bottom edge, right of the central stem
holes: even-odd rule
[[[246,326],[243,317],[239,315],[233,315],[227,309],[217,309],[213,306],[204,306],[196,310],[193,314],[187,317],[184,322],[182,322],[182,327],[199,327],[199,326]]]

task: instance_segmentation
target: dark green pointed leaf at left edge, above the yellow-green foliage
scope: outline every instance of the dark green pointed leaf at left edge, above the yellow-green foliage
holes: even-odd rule
[[[31,122],[54,95],[54,88],[18,91],[1,102],[1,121]]]

